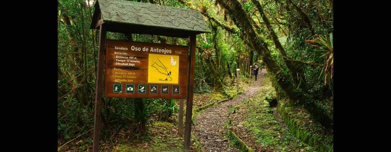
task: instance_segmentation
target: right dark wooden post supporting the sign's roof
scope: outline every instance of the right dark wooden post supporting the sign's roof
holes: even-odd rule
[[[190,151],[191,137],[191,115],[193,111],[193,90],[194,90],[194,60],[195,60],[195,39],[196,34],[190,35],[189,71],[187,80],[187,102],[186,102],[186,124],[185,124],[185,151]]]

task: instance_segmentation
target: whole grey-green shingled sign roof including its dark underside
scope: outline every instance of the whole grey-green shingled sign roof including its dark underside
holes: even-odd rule
[[[107,31],[187,37],[210,32],[197,10],[124,0],[98,0],[91,28],[105,24]]]

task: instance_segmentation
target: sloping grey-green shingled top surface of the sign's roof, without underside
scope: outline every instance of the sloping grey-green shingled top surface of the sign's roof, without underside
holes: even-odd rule
[[[101,18],[106,23],[123,23],[197,33],[210,32],[197,10],[173,8],[123,0],[98,0]]]

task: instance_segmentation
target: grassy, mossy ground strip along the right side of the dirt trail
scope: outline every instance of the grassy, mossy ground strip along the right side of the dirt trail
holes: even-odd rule
[[[264,74],[261,74],[261,80],[261,89],[256,95],[229,109],[224,124],[229,132],[226,136],[231,140],[240,139],[247,149],[254,151],[314,151],[313,147],[295,138],[279,113],[270,107],[268,100],[275,95],[275,90]],[[235,142],[231,143],[237,144]]]

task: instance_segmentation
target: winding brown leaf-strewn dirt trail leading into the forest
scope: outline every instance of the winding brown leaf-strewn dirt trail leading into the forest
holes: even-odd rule
[[[223,125],[228,121],[228,112],[231,107],[254,96],[260,90],[265,73],[266,69],[262,69],[258,74],[258,80],[254,81],[253,79],[252,85],[237,98],[207,108],[195,118],[194,134],[206,152],[239,151],[236,147],[231,146],[224,136],[227,130]]]

